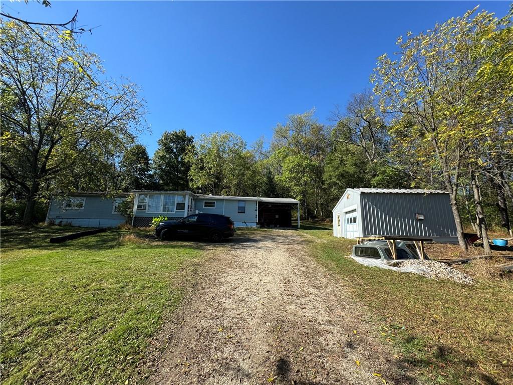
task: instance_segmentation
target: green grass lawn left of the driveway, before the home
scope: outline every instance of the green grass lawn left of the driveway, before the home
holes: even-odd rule
[[[202,245],[120,240],[121,230],[2,228],[2,382],[125,383],[180,301],[178,270]]]

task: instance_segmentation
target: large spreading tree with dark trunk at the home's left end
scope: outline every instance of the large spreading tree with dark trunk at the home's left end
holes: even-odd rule
[[[136,86],[98,80],[103,70],[96,55],[72,36],[39,32],[45,41],[23,23],[1,27],[1,95],[8,106],[1,113],[2,178],[24,191],[26,225],[44,186],[89,148],[133,141],[144,115]]]

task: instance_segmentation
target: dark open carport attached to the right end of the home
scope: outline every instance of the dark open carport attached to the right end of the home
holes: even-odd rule
[[[258,224],[260,227],[299,228],[299,204],[291,198],[259,198]],[[292,224],[292,210],[297,210],[297,223]]]

